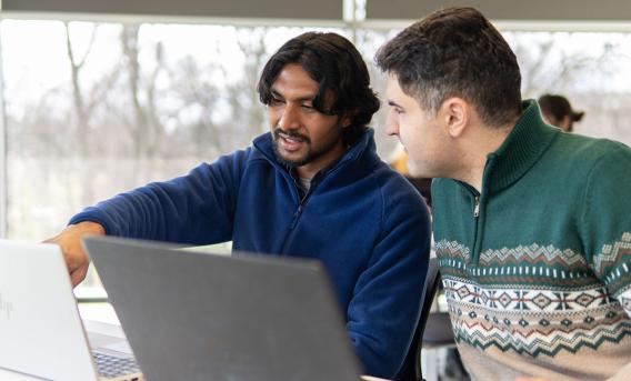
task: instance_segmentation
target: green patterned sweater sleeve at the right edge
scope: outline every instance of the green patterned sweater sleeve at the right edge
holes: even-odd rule
[[[582,235],[594,273],[631,318],[631,150],[610,144],[588,178]]]

